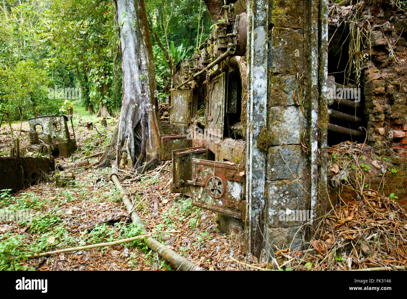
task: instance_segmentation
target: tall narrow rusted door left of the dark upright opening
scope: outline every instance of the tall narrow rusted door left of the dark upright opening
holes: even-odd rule
[[[225,72],[215,77],[210,85],[210,100],[208,105],[208,140],[223,138],[225,115]]]

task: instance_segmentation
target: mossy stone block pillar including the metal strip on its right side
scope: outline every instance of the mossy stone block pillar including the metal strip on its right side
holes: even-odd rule
[[[326,109],[320,96],[324,86],[326,92],[327,72],[321,5],[326,3],[269,0],[267,131],[261,136],[268,140],[263,148],[263,253],[268,258],[274,255],[274,245],[300,247],[304,223],[318,203],[318,177],[326,183],[325,172],[320,172],[326,162],[318,165],[318,150],[326,151],[326,126],[324,138],[318,140],[318,106],[322,103]]]

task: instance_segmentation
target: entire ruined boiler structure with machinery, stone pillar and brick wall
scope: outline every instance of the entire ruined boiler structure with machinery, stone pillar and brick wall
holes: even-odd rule
[[[330,209],[341,190],[330,187],[328,145],[361,142],[387,157],[398,169],[387,183],[406,198],[406,17],[381,1],[356,2],[207,3],[221,21],[171,78],[160,135],[171,188],[219,213],[223,231],[246,230],[256,256],[300,247],[312,218]],[[355,46],[347,37],[356,31]],[[281,217],[285,210],[308,216]]]

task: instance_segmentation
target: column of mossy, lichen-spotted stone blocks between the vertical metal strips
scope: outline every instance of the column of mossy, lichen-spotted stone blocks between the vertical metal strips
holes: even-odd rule
[[[281,217],[282,211],[310,206],[308,156],[301,146],[307,126],[300,107],[299,80],[304,72],[304,3],[269,1],[269,55],[265,211],[263,249],[273,256],[277,247],[300,245],[300,221]],[[303,112],[304,111],[304,112]]]

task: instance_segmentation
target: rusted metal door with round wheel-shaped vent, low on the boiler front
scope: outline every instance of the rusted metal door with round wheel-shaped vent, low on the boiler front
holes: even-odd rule
[[[213,212],[245,219],[244,166],[192,159],[192,203]]]

